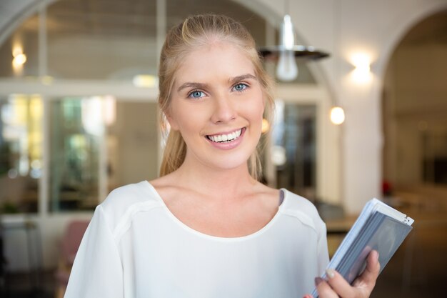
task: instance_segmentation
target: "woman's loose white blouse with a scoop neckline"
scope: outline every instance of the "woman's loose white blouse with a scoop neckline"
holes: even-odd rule
[[[328,264],[326,226],[303,197],[245,237],[198,232],[172,214],[149,182],[115,189],[96,207],[66,298],[302,297]]]

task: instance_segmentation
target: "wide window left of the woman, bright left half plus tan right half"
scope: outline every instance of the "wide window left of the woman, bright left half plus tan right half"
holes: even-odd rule
[[[94,209],[112,189],[157,177],[157,106],[111,96],[51,100],[50,210]]]

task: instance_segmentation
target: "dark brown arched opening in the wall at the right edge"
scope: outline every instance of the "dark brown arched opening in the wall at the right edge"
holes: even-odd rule
[[[418,204],[445,204],[435,202],[433,192],[439,193],[436,197],[447,193],[446,77],[444,10],[419,21],[403,36],[383,81],[385,187],[417,194]]]

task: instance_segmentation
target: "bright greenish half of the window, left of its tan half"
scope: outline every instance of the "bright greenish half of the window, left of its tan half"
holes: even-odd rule
[[[99,97],[55,99],[50,104],[50,210],[94,209],[99,194]]]

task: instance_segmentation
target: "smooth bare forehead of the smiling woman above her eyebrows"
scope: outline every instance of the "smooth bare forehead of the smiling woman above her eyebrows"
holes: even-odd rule
[[[246,51],[226,42],[198,46],[181,61],[175,74],[176,84],[182,81],[228,79],[241,74],[253,74],[253,62]]]

